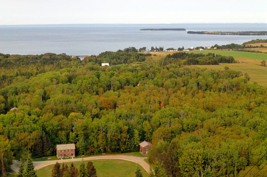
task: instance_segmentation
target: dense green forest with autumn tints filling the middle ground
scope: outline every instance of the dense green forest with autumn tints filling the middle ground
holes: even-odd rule
[[[13,157],[55,155],[55,145],[65,143],[75,143],[77,154],[97,155],[138,151],[147,140],[149,161],[168,176],[242,176],[266,153],[266,89],[239,71],[183,66],[190,58],[232,58],[176,53],[147,64],[131,52],[83,61],[64,54],[1,56],[6,170]]]

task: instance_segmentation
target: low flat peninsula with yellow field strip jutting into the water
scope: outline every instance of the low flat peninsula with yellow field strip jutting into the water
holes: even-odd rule
[[[244,35],[244,36],[264,36],[267,31],[244,31],[244,32],[207,32],[207,31],[188,31],[188,34],[214,34],[214,35]]]

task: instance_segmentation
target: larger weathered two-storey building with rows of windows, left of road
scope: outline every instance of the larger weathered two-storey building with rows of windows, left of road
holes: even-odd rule
[[[57,145],[57,158],[75,157],[74,144],[58,144]]]

